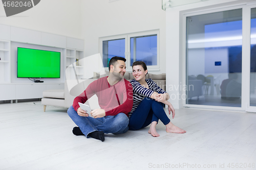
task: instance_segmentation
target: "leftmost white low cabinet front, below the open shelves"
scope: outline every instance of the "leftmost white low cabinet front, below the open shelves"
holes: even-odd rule
[[[0,101],[15,99],[15,85],[0,84]]]

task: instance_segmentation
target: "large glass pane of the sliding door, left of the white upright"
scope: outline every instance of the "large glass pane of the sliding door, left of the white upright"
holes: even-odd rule
[[[186,17],[188,105],[241,107],[242,9]]]

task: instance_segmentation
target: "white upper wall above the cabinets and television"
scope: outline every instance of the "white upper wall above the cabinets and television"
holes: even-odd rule
[[[9,17],[1,2],[0,24],[81,38],[81,0],[42,0],[35,7]]]

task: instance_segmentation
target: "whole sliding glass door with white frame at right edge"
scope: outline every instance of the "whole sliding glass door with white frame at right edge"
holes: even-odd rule
[[[256,5],[186,14],[185,107],[256,112]]]

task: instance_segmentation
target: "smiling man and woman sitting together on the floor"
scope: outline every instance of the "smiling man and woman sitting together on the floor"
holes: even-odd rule
[[[128,130],[138,130],[151,124],[152,136],[156,131],[158,119],[166,126],[166,132],[185,133],[170,122],[163,109],[168,106],[169,114],[175,111],[167,100],[169,94],[152,79],[145,79],[146,64],[133,63],[134,79],[130,82],[123,78],[126,70],[125,58],[113,57],[109,62],[110,75],[92,82],[86,90],[74,99],[68,114],[78,127],[73,128],[75,135],[85,135],[104,141],[104,133],[121,134]],[[91,117],[79,105],[85,103],[94,94],[98,97],[100,109],[91,111]]]

